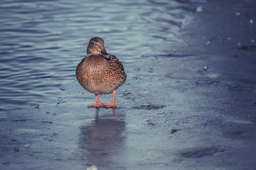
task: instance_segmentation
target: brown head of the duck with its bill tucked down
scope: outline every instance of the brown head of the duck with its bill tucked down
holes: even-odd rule
[[[93,37],[88,43],[87,55],[90,56],[92,54],[104,56],[104,58],[110,58],[108,52],[106,52],[102,38]]]

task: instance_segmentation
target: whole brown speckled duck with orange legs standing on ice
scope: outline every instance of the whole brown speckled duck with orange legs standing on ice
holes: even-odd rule
[[[84,89],[95,94],[96,104],[88,107],[116,107],[116,89],[124,84],[124,66],[106,52],[102,38],[93,37],[87,47],[88,57],[82,59],[76,68],[76,78]],[[113,93],[110,104],[102,104],[98,95]]]

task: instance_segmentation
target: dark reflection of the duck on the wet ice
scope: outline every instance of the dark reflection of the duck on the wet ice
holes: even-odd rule
[[[80,128],[79,146],[85,164],[105,166],[113,163],[113,157],[122,154],[124,145],[125,121],[113,116],[99,116],[96,109],[95,121]],[[108,110],[109,111],[109,110]]]

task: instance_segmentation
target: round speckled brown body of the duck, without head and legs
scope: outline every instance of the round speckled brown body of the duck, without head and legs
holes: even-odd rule
[[[112,93],[126,79],[124,66],[117,58],[89,56],[77,66],[76,77],[81,86],[95,94]]]

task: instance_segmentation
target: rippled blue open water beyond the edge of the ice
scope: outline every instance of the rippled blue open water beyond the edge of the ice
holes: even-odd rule
[[[170,42],[204,1],[1,1],[0,111],[56,102],[88,40],[123,63]]]

